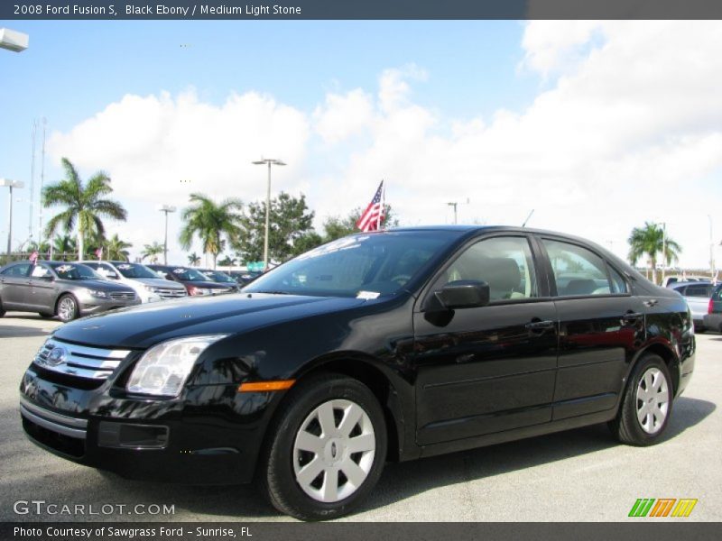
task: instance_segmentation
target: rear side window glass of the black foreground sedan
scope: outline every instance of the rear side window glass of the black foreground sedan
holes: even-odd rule
[[[626,291],[625,280],[616,271],[616,280],[609,280],[607,265],[596,253],[576,244],[543,240],[554,272],[559,297],[609,295]]]

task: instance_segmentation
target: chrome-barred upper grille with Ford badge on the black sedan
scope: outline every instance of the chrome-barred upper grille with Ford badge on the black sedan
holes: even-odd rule
[[[33,362],[45,370],[85,380],[107,380],[130,350],[109,350],[68,344],[51,339],[42,345]]]

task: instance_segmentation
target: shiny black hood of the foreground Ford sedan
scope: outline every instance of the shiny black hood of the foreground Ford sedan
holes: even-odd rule
[[[79,344],[145,349],[189,335],[234,335],[283,321],[364,304],[357,298],[236,293],[120,309],[60,326],[54,336]]]

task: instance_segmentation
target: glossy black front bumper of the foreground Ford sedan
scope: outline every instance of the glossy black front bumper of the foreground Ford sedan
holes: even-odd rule
[[[31,441],[75,463],[143,481],[239,484],[253,479],[268,393],[199,386],[182,399],[123,397],[106,381],[69,387],[32,365],[20,387]]]

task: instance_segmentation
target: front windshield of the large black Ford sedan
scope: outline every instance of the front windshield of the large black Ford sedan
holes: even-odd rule
[[[282,264],[244,291],[358,298],[393,294],[457,236],[405,231],[346,237]]]

